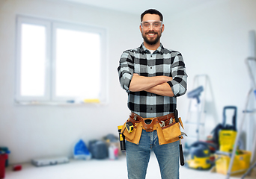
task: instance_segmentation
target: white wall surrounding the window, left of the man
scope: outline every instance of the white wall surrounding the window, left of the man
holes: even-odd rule
[[[16,14],[77,22],[107,28],[109,104],[103,106],[22,106],[14,103]],[[124,21],[125,19],[125,21]],[[81,4],[43,0],[7,0],[0,4],[0,145],[10,151],[10,163],[36,157],[71,156],[82,138],[118,134],[129,115],[127,94],[118,82],[122,51],[141,43],[139,17]]]

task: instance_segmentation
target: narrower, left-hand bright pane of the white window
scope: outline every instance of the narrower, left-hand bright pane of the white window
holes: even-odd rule
[[[22,24],[21,95],[42,96],[45,89],[46,28]]]

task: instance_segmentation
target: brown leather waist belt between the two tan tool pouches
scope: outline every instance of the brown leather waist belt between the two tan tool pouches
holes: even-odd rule
[[[128,120],[132,122],[132,125],[134,126],[136,126],[135,123],[142,122],[142,127],[147,132],[155,131],[157,123],[159,123],[159,125],[162,128],[173,125],[175,123],[174,113],[170,113],[168,115],[159,116],[155,118],[142,118],[141,116],[138,116],[135,113],[130,113]]]

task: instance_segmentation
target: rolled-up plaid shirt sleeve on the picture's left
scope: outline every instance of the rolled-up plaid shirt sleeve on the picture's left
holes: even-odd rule
[[[119,61],[118,75],[121,87],[127,92],[129,92],[129,84],[131,83],[133,72],[134,65],[132,56],[129,51],[124,51]]]

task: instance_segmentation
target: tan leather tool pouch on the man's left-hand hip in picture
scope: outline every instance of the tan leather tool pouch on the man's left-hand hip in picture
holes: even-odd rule
[[[132,125],[134,126],[134,129],[131,133],[127,131],[127,128],[125,128],[125,124],[130,121],[132,122]],[[122,133],[125,136],[125,139],[127,141],[135,143],[138,145],[139,140],[141,139],[141,132],[142,132],[142,122],[136,122],[135,120],[129,118],[126,123],[124,123],[122,128]]]

